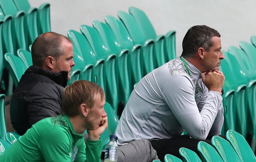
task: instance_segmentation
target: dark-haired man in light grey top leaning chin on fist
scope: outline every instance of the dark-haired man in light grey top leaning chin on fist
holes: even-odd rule
[[[220,34],[206,25],[191,27],[182,42],[181,57],[156,68],[138,82],[116,129],[118,144],[147,139],[160,160],[179,156],[178,149],[197,151],[197,143],[211,143],[223,125],[219,71],[224,55]],[[188,135],[181,135],[186,130]]]

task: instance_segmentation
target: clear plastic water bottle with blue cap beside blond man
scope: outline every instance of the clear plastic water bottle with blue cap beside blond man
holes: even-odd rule
[[[116,135],[110,135],[110,141],[105,146],[104,162],[117,162],[118,145],[116,143]]]

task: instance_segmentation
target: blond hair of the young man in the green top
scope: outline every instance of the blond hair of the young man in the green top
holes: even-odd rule
[[[62,95],[62,111],[69,117],[75,117],[81,114],[80,105],[82,103],[85,103],[88,108],[92,108],[97,95],[101,100],[105,99],[104,90],[98,84],[78,80],[66,86]]]

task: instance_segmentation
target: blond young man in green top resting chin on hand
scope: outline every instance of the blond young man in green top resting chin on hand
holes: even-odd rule
[[[62,96],[63,114],[42,119],[0,156],[2,162],[100,162],[100,135],[108,127],[105,94],[93,82],[78,80]],[[84,131],[88,139],[84,142]]]

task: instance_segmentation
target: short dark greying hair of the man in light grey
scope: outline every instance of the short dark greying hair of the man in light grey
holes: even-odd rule
[[[195,25],[188,29],[182,41],[182,57],[189,58],[196,53],[198,48],[203,47],[206,51],[212,47],[212,37],[220,37],[220,33],[206,25]]]

